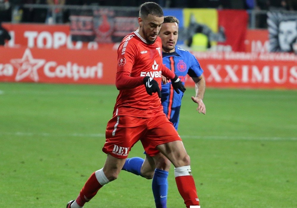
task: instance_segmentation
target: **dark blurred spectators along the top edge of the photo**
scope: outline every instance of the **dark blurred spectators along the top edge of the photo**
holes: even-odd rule
[[[56,23],[68,22],[69,11],[63,9],[28,8],[23,4],[95,5],[138,7],[148,0],[0,0],[0,21],[51,23],[55,13]],[[216,8],[246,10],[297,10],[297,0],[150,0],[163,8]]]

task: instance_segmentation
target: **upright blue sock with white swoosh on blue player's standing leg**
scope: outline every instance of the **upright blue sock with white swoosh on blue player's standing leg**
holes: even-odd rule
[[[168,193],[168,172],[155,169],[153,182],[151,184],[155,198],[156,208],[166,208]]]

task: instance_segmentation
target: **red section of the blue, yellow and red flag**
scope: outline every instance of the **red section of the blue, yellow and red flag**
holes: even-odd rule
[[[226,35],[226,41],[218,45],[232,46],[232,51],[245,51],[247,24],[245,10],[218,10],[218,25],[224,28]]]

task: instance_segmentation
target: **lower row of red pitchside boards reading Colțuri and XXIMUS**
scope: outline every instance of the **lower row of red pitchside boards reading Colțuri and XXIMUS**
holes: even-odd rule
[[[262,43],[261,43],[262,44]],[[114,84],[117,47],[71,50],[0,47],[0,82]],[[297,89],[293,53],[192,52],[207,87]],[[194,86],[187,77],[186,86]]]

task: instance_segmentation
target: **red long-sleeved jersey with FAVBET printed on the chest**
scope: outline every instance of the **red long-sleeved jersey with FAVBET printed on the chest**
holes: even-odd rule
[[[149,95],[143,84],[143,78],[150,76],[161,89],[161,75],[170,79],[175,76],[163,65],[161,38],[148,44],[138,30],[124,37],[118,48],[116,86],[120,93],[114,114],[142,118],[164,114],[158,93]]]

